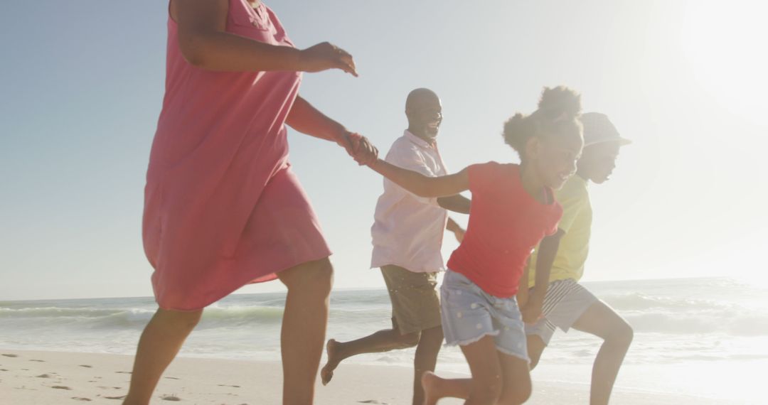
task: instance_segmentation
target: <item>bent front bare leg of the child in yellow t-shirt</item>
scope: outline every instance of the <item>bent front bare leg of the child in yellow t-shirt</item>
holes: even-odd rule
[[[632,327],[602,301],[592,304],[574,323],[574,328],[603,338],[592,366],[591,405],[606,405],[611,398],[624,354],[632,343]]]

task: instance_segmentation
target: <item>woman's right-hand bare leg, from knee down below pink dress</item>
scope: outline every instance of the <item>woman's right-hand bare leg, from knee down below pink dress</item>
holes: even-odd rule
[[[311,404],[326,338],[333,266],[323,258],[283,270],[277,276],[288,288],[280,332],[283,404]]]

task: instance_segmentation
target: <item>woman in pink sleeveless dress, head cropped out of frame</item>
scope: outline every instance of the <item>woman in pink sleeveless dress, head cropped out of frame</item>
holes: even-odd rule
[[[144,250],[160,308],[138,344],[125,404],[147,404],[203,308],[279,278],[283,403],[312,403],[333,268],[290,170],[286,127],[376,159],[298,94],[303,71],[341,69],[332,44],[298,50],[259,0],[170,1],[166,88],[144,194]]]

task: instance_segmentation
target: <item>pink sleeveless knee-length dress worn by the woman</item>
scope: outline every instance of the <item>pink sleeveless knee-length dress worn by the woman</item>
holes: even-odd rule
[[[293,47],[265,5],[230,0],[227,31]],[[301,73],[194,67],[168,19],[163,110],[144,190],[144,251],[164,309],[204,308],[330,255],[288,163],[284,122]]]

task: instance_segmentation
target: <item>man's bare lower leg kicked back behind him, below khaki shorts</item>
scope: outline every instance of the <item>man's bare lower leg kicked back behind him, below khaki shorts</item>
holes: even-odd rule
[[[441,335],[442,336],[442,335]],[[353,357],[363,353],[380,353],[396,349],[406,349],[419,344],[420,332],[400,334],[395,320],[392,319],[392,329],[383,329],[354,341],[339,342],[330,339],[326,344],[328,359],[323,370],[320,370],[320,378],[323,385],[328,384],[333,378],[333,370],[347,357]],[[435,354],[436,357],[436,354]]]

